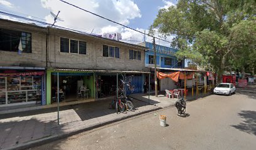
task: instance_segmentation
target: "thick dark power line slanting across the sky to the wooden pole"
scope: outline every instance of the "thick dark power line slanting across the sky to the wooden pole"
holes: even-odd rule
[[[107,21],[113,22],[113,23],[115,23],[115,24],[119,24],[120,26],[126,27],[126,28],[128,28],[128,29],[133,30],[133,31],[140,32],[140,33],[142,33],[142,34],[146,34],[146,33],[141,32],[141,31],[139,31],[139,30],[133,29],[132,27],[125,26],[124,24],[120,24],[119,22],[112,21],[111,19],[108,19],[107,17],[100,16],[99,14],[95,14],[95,13],[93,13],[93,12],[91,12],[91,11],[87,11],[86,9],[80,8],[80,7],[78,7],[78,6],[74,5],[74,4],[71,4],[71,3],[69,3],[69,2],[66,2],[66,1],[63,1],[63,0],[59,0],[59,1],[64,2],[64,3],[66,3],[66,4],[69,4],[70,6],[73,6],[73,7],[75,7],[75,8],[81,9],[82,11],[88,12],[88,13],[93,14],[93,15],[95,15],[95,16],[101,17],[102,19],[105,19],[105,20],[107,20]],[[147,36],[151,36],[150,34],[146,34],[146,35],[147,35]],[[154,36],[151,36],[151,37],[154,37]],[[165,41],[165,42],[171,43],[170,41],[161,39],[161,38],[159,38],[159,37],[155,37],[155,38],[156,38],[156,39],[159,39],[159,40],[161,40],[161,41]]]

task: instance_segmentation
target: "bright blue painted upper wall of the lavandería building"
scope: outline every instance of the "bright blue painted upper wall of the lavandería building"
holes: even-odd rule
[[[151,42],[144,43],[146,47],[149,47],[149,51],[145,53],[145,64],[149,64],[149,55],[154,56],[153,44]],[[178,49],[173,49],[171,47],[160,46],[156,44],[156,64],[157,67],[161,68],[184,68],[183,66],[178,66],[178,60],[174,56],[174,54],[178,51]],[[171,58],[171,65],[164,64],[164,58]]]

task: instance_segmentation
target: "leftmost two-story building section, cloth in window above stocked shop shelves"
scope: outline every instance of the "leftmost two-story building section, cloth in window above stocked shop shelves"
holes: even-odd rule
[[[0,107],[46,104],[46,31],[0,19]]]

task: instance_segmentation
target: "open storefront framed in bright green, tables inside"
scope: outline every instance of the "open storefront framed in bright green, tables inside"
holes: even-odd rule
[[[47,104],[57,102],[59,89],[60,102],[72,102],[94,98],[94,76],[86,71],[73,69],[48,69]]]

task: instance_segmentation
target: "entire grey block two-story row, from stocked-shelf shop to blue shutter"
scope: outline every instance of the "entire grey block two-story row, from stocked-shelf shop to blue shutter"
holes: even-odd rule
[[[142,92],[144,46],[84,32],[0,19],[0,107],[52,104],[56,87],[63,101],[94,101],[115,94],[121,74]],[[60,91],[61,93],[61,91]],[[64,98],[62,97],[64,96]],[[83,103],[83,101],[81,101]]]

